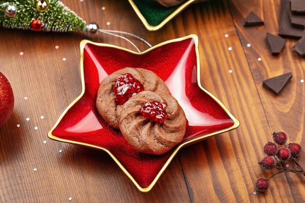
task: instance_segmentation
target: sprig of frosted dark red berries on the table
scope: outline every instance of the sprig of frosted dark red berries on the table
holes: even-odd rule
[[[274,142],[268,142],[264,146],[264,152],[267,156],[265,156],[258,164],[267,170],[278,168],[281,169],[281,171],[274,173],[269,178],[259,178],[255,183],[255,188],[260,192],[265,192],[269,188],[268,180],[277,174],[292,172],[303,174],[305,176],[304,169],[296,159],[302,151],[301,146],[298,143],[290,143],[286,146],[287,135],[284,132],[273,132],[272,135]],[[284,162],[289,159],[294,161],[297,169],[287,168],[289,165],[286,165],[285,167],[283,166]]]

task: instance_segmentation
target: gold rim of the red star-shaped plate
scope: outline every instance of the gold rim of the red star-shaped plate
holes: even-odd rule
[[[150,52],[151,50],[153,49],[156,49],[158,47],[161,47],[165,44],[169,44],[169,43],[172,43],[172,42],[178,42],[178,41],[183,41],[183,40],[186,40],[186,39],[189,39],[189,38],[193,38],[194,41],[195,41],[195,52],[196,52],[196,63],[197,63],[197,83],[198,83],[198,86],[200,87],[200,89],[204,92],[206,92],[208,95],[210,95],[210,97],[212,97],[220,106],[221,108],[229,115],[229,117],[233,120],[234,124],[233,126],[227,128],[227,129],[222,129],[222,130],[218,130],[218,131],[215,131],[215,132],[212,132],[210,134],[207,134],[207,135],[203,135],[203,136],[200,136],[200,137],[197,137],[195,139],[192,139],[192,140],[189,140],[188,142],[185,142],[185,143],[182,143],[180,144],[173,152],[172,152],[172,155],[169,157],[169,159],[166,161],[166,163],[164,164],[164,166],[161,168],[161,170],[159,171],[159,173],[157,174],[157,176],[154,178],[154,180],[152,181],[152,183],[143,188],[141,187],[133,178],[133,176],[125,169],[125,167],[115,158],[115,156],[112,154],[111,151],[109,151],[108,149],[106,148],[102,148],[102,147],[98,147],[98,146],[95,146],[95,145],[91,145],[91,144],[87,144],[87,143],[82,143],[82,142],[77,142],[77,141],[73,141],[73,140],[67,140],[67,139],[62,139],[62,138],[59,138],[59,137],[56,137],[52,134],[52,131],[57,127],[57,125],[60,123],[60,121],[62,120],[62,118],[64,117],[64,115],[67,113],[67,111],[69,111],[69,109],[74,105],[76,104],[76,102],[84,95],[85,93],[85,78],[84,78],[84,64],[83,64],[83,61],[84,61],[84,47],[86,44],[93,44],[93,45],[96,45],[96,46],[103,46],[103,47],[112,47],[112,48],[115,48],[115,49],[118,49],[118,50],[122,50],[122,51],[125,51],[125,52],[129,52],[129,53],[132,53],[134,55],[144,55],[148,52]],[[229,130],[232,130],[232,129],[236,129],[239,127],[240,125],[240,122],[239,120],[233,116],[233,114],[225,107],[225,105],[218,99],[216,98],[213,94],[211,94],[209,91],[205,90],[201,83],[200,83],[200,58],[199,58],[199,48],[198,48],[198,37],[194,34],[191,34],[189,36],[186,36],[186,37],[180,37],[180,38],[176,38],[176,39],[172,39],[172,40],[168,40],[168,41],[165,41],[165,42],[162,42],[160,44],[157,44],[149,49],[147,49],[146,51],[144,52],[140,52],[140,53],[137,53],[137,52],[134,52],[132,50],[129,50],[129,49],[126,49],[126,48],[122,48],[122,47],[119,47],[119,46],[115,46],[115,45],[111,45],[111,44],[104,44],[104,43],[97,43],[97,42],[92,42],[90,40],[82,40],[80,42],[80,74],[81,74],[81,84],[82,84],[82,91],[80,93],[80,95],[78,97],[76,97],[76,99],[65,109],[65,111],[63,111],[63,113],[60,115],[60,117],[58,118],[56,124],[53,126],[52,129],[50,129],[50,131],[48,132],[48,137],[50,139],[53,139],[53,140],[56,140],[56,141],[59,141],[59,142],[65,142],[65,143],[71,143],[71,144],[75,144],[75,145],[80,145],[80,146],[85,146],[85,147],[89,147],[89,148],[95,148],[95,149],[100,149],[100,150],[103,150],[105,152],[107,152],[111,158],[115,161],[115,163],[123,170],[123,172],[130,178],[130,180],[133,182],[133,184],[141,191],[141,192],[148,192],[152,189],[152,187],[155,185],[155,183],[157,182],[157,180],[160,178],[160,176],[162,175],[162,173],[165,171],[165,169],[167,168],[167,166],[169,166],[169,164],[171,163],[172,159],[175,157],[175,155],[178,153],[178,151],[181,149],[181,148],[184,148],[186,146],[189,146],[191,144],[194,144],[196,142],[199,142],[199,141],[202,141],[210,136],[213,136],[213,135],[216,135],[216,134],[219,134],[219,133],[223,133],[223,132],[226,132],[226,131],[229,131]]]

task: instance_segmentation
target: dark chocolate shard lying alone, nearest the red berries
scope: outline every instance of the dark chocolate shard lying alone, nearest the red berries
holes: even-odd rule
[[[282,74],[263,81],[263,87],[267,90],[279,95],[283,88],[291,80],[292,73]]]

